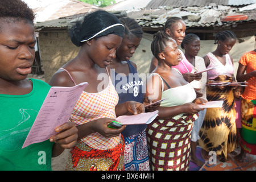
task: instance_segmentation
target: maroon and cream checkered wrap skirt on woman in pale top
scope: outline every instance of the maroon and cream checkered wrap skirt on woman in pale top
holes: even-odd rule
[[[191,131],[198,114],[154,120],[147,126],[150,167],[153,171],[188,170]]]

